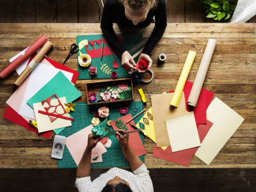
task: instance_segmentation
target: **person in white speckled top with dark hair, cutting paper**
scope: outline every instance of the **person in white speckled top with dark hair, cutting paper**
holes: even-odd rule
[[[116,131],[116,134],[120,138],[120,146],[125,152],[132,172],[120,168],[111,168],[92,182],[90,178],[92,149],[101,138],[95,139],[92,134],[89,134],[88,145],[76,172],[78,191],[154,191],[147,167],[128,145],[129,134],[125,134],[123,130]]]

